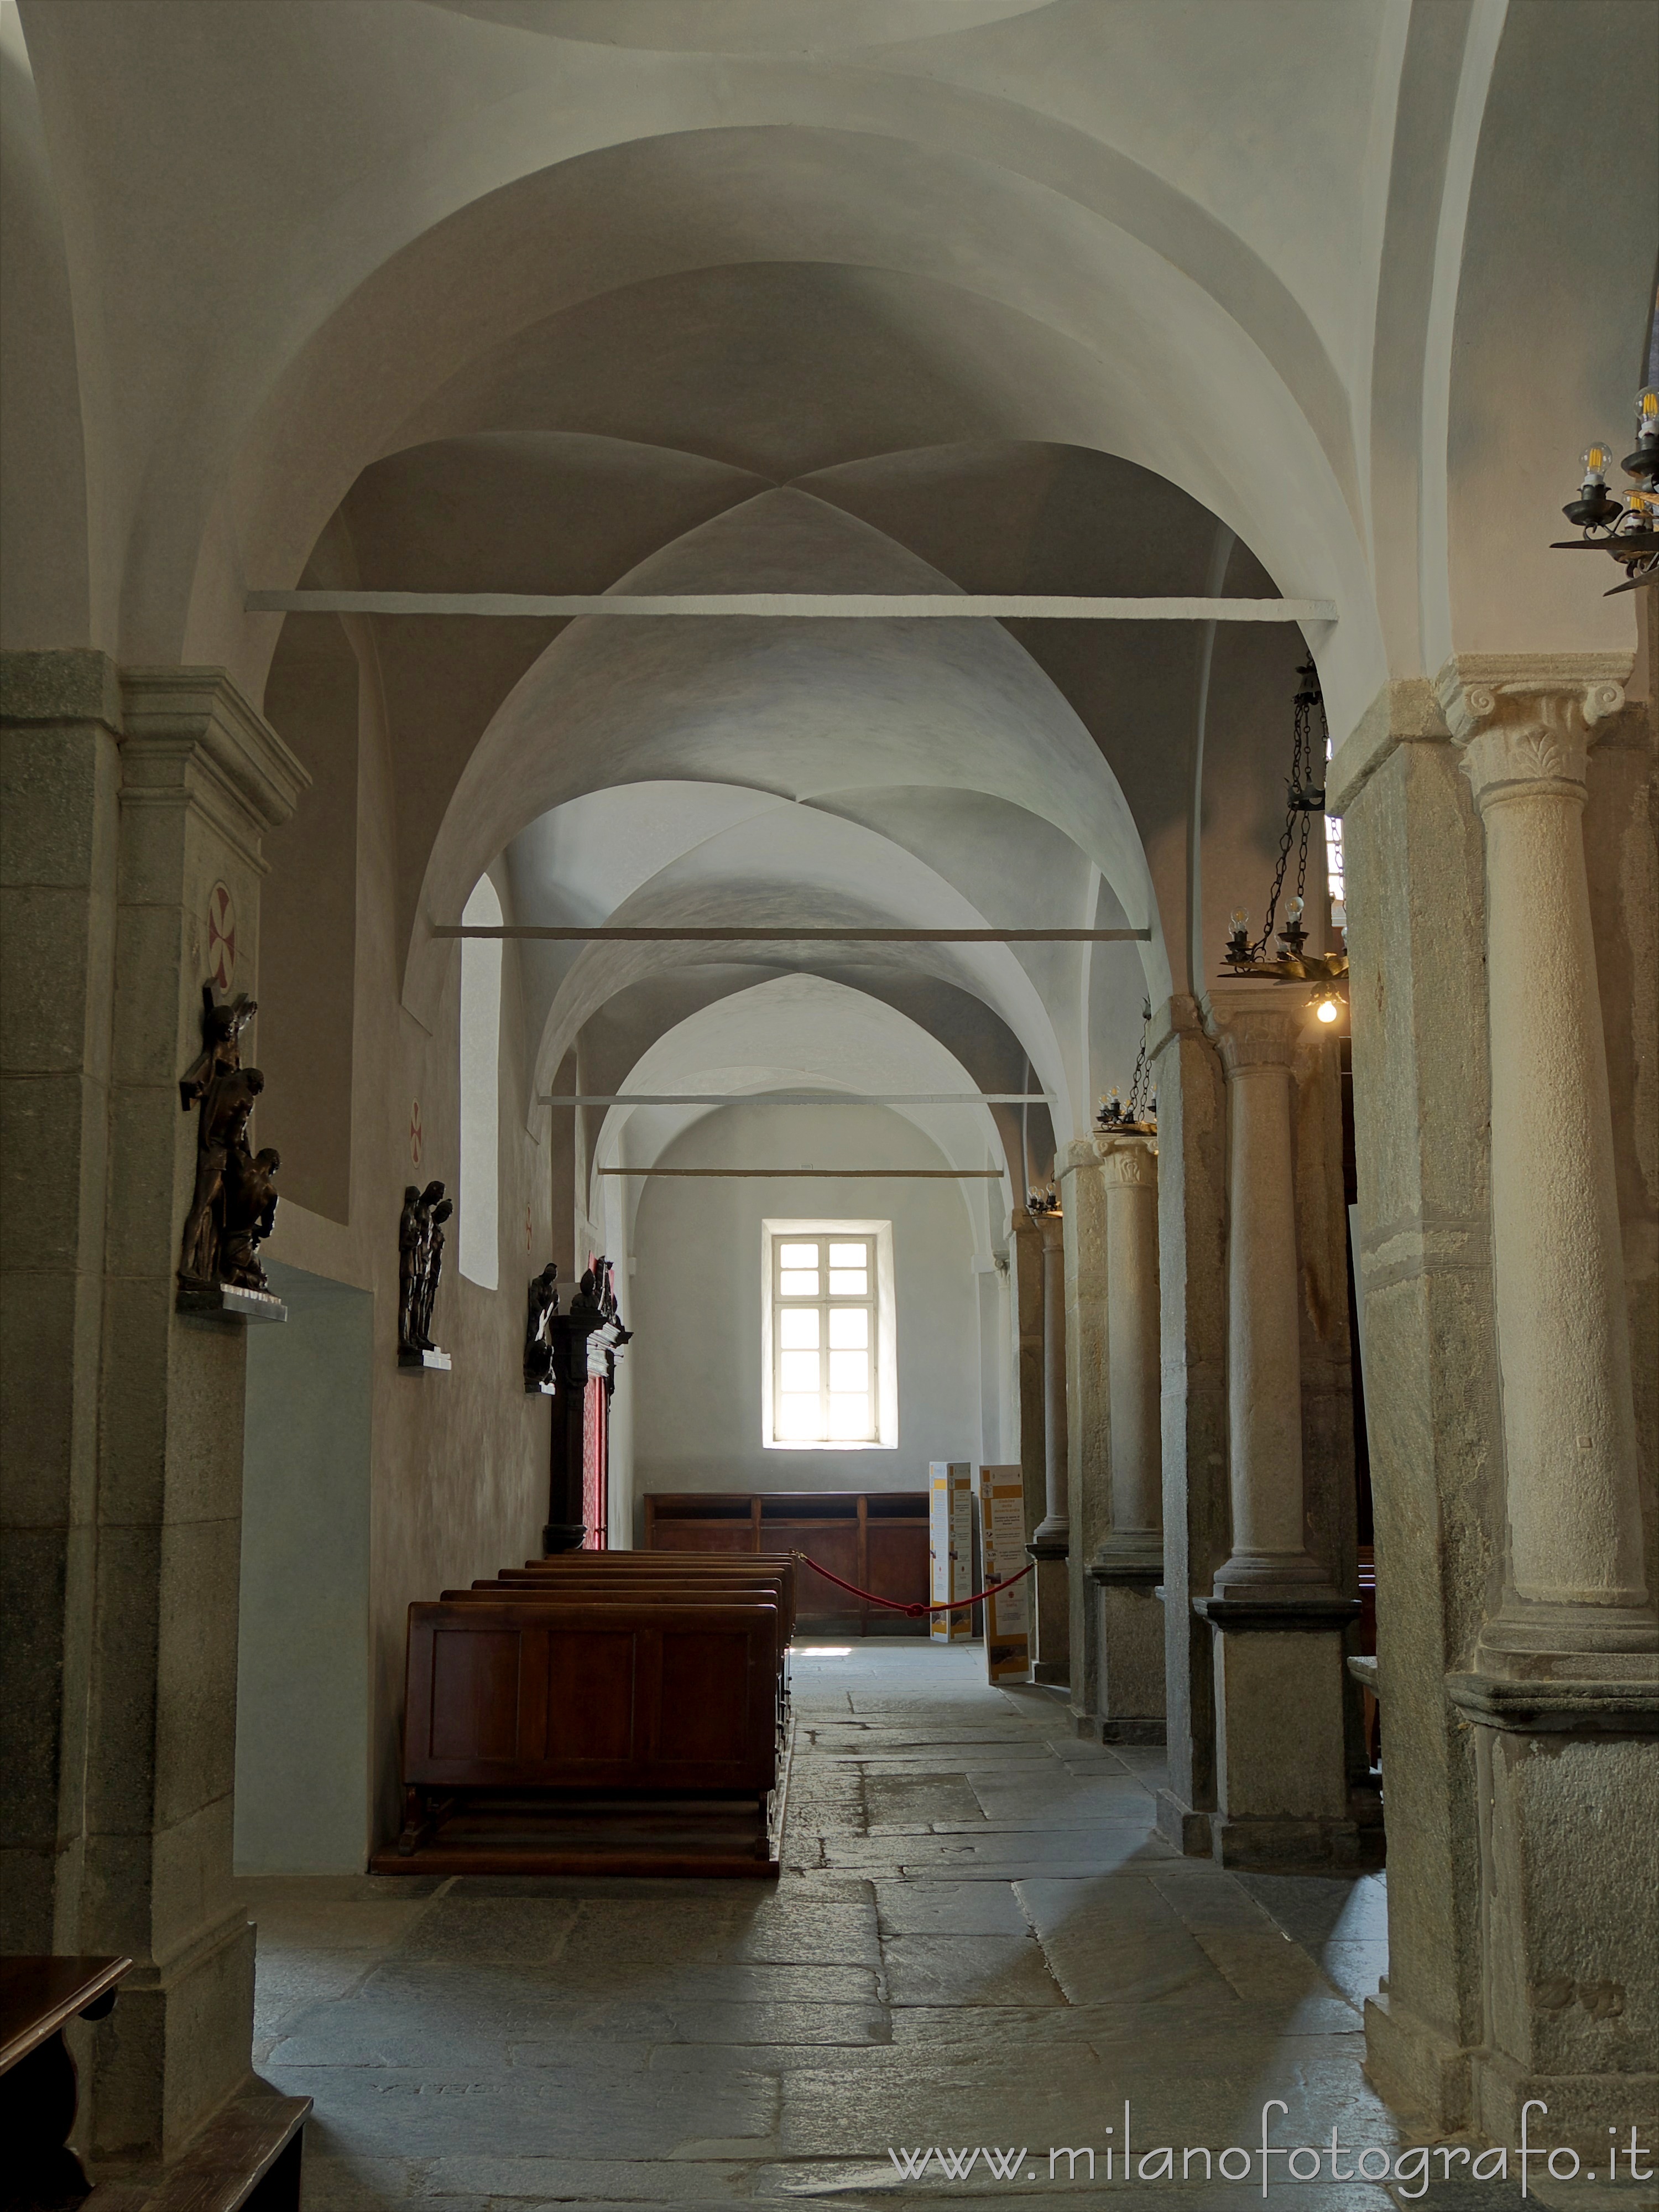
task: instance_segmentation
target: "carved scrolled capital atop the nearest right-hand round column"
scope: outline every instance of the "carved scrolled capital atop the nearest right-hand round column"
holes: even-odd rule
[[[1628,653],[1460,653],[1436,690],[1475,805],[1520,790],[1584,792],[1595,726],[1624,706]]]

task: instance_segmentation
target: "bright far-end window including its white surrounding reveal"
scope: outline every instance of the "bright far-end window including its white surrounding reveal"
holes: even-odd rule
[[[887,1221],[765,1223],[765,1425],[783,1451],[898,1442]]]

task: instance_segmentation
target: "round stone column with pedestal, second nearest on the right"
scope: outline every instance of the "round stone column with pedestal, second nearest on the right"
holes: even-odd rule
[[[1307,1548],[1294,1057],[1307,1009],[1228,995],[1228,1475],[1232,1553],[1194,1599],[1214,1637],[1223,1865],[1352,1863],[1343,1599]]]

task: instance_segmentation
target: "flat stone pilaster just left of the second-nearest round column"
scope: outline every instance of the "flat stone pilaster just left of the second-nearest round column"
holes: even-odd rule
[[[1159,1371],[1164,1440],[1164,1668],[1170,1781],[1159,1829],[1210,1849],[1214,1677],[1192,1610],[1228,1555],[1225,1091],[1192,998],[1152,1015],[1157,1071]]]

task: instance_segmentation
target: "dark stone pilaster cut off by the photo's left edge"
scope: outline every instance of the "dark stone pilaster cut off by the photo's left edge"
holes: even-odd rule
[[[122,701],[0,659],[0,1951],[82,1951]]]

